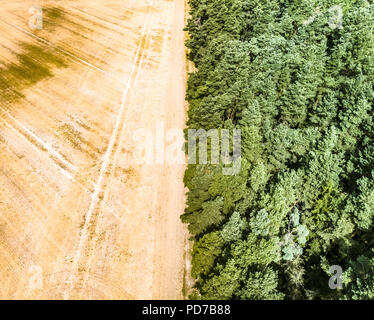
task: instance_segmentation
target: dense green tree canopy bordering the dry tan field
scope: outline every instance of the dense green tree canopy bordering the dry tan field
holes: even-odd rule
[[[190,0],[190,13],[188,128],[242,136],[239,174],[185,173],[191,298],[374,298],[374,1]]]

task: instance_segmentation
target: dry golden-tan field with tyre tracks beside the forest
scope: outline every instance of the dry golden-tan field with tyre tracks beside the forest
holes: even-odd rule
[[[185,123],[183,0],[0,3],[0,299],[182,298],[184,165],[127,161]]]

